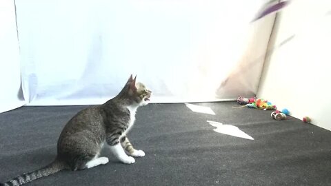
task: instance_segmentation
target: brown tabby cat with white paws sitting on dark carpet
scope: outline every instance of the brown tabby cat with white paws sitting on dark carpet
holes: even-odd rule
[[[108,158],[100,157],[104,147],[126,164],[134,163],[133,157],[145,156],[142,150],[134,149],[126,136],[134,124],[137,108],[147,105],[152,93],[143,83],[136,83],[136,78],[131,75],[113,99],[81,110],[68,121],[59,136],[57,157],[50,165],[0,185],[23,185],[63,169],[76,171],[105,165]]]

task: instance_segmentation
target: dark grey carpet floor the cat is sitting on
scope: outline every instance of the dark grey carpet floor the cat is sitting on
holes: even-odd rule
[[[110,163],[63,171],[28,185],[331,185],[331,132],[271,111],[200,103],[139,108],[128,136],[146,152],[133,165]],[[56,156],[63,125],[86,106],[21,107],[0,114],[0,182],[47,165]],[[234,125],[254,141],[214,132],[206,121]]]

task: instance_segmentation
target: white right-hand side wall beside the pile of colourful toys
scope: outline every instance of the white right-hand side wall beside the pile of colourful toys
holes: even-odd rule
[[[297,0],[279,12],[258,97],[331,130],[331,1]]]

